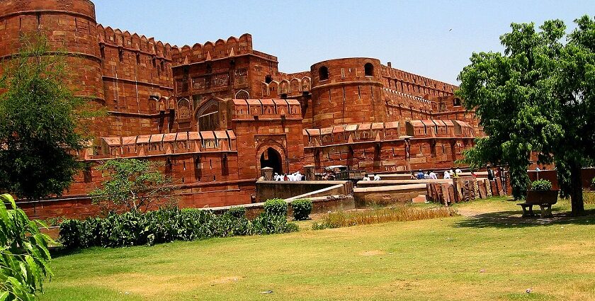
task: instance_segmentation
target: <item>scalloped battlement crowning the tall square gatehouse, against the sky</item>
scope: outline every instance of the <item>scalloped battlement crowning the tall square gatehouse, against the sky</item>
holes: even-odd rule
[[[205,62],[212,59],[222,59],[225,57],[234,57],[236,55],[256,54],[268,59],[277,60],[277,57],[256,52],[252,49],[252,35],[244,33],[239,38],[229,37],[227,40],[219,39],[216,42],[205,42],[194,44],[192,47],[184,45],[172,47],[172,59],[176,64],[192,64],[196,62]]]

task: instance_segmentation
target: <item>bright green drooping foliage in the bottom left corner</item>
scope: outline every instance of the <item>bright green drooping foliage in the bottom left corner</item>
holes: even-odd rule
[[[0,195],[0,300],[36,300],[52,276],[49,242],[11,195]]]

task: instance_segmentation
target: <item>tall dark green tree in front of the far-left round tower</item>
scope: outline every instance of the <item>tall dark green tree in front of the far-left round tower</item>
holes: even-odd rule
[[[0,191],[36,200],[72,183],[81,167],[74,153],[89,141],[87,112],[65,84],[64,56],[42,36],[23,45],[0,77]]]

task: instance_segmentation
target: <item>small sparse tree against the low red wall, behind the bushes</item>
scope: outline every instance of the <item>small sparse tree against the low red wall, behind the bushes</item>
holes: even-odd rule
[[[102,188],[91,192],[93,203],[125,205],[130,211],[145,212],[156,200],[175,201],[173,181],[164,176],[155,162],[138,159],[111,159],[98,167],[107,178]]]

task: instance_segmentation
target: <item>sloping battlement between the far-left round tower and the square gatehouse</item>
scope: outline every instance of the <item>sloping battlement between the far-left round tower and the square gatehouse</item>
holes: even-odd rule
[[[138,35],[137,33],[130,34],[128,30],[123,32],[110,26],[103,28],[101,24],[97,25],[97,34],[100,45],[111,45],[160,59],[171,60],[172,49],[176,48],[176,46],[172,47],[169,43],[164,44],[162,41],[155,40],[155,38],[147,38],[145,35]]]

